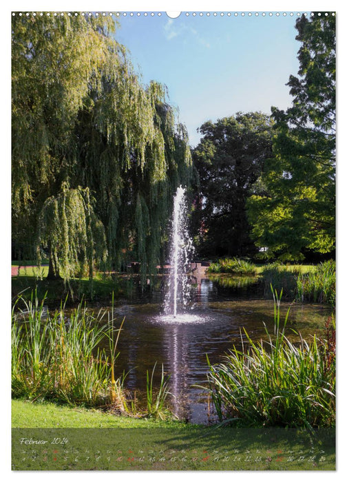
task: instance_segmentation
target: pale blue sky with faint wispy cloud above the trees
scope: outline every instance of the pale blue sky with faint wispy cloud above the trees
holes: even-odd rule
[[[167,85],[195,146],[196,129],[209,119],[291,105],[285,84],[298,70],[295,19],[289,13],[187,17],[182,12],[169,19],[165,12],[161,17],[128,12],[118,18],[116,39],[129,49],[144,83]]]

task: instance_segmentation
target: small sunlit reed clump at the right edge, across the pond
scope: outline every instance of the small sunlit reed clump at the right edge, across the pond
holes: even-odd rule
[[[336,262],[320,263],[310,273],[297,276],[297,300],[328,303],[336,302]]]

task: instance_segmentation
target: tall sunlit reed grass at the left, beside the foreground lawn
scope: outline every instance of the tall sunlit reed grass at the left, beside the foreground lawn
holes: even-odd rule
[[[19,300],[12,309],[12,397],[121,408],[114,364],[123,323],[116,330],[113,313],[94,316],[81,304],[68,317],[63,305],[50,314],[33,296],[18,311]]]

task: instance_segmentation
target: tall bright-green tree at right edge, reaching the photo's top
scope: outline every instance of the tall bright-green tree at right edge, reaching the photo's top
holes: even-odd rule
[[[248,204],[255,242],[283,259],[335,248],[335,17],[302,16],[296,29],[293,106],[273,108],[275,156]]]

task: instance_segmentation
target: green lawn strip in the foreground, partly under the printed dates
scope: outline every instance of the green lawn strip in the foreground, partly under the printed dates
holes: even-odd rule
[[[19,400],[12,427],[12,470],[335,469],[326,430],[215,429]]]

